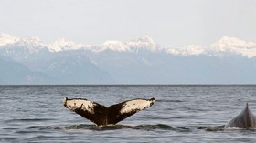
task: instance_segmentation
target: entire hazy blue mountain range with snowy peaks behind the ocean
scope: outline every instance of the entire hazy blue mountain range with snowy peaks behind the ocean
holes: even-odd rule
[[[91,46],[0,34],[0,85],[256,84],[255,73],[256,43],[236,37],[174,48],[149,36]]]

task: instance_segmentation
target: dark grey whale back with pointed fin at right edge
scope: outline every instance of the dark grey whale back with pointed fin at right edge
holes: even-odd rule
[[[229,127],[256,128],[256,118],[251,113],[248,103],[246,103],[246,107],[240,114],[237,117],[233,117],[224,128]]]

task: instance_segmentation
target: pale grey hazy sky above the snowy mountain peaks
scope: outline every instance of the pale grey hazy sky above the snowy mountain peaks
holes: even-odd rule
[[[151,36],[160,46],[256,42],[255,0],[0,0],[0,33],[101,45]]]

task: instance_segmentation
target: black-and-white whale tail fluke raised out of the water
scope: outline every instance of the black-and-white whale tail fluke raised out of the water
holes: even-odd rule
[[[127,100],[110,107],[102,106],[96,102],[88,101],[85,98],[65,97],[63,105],[76,112],[81,117],[85,117],[98,126],[114,125],[133,114],[151,107],[155,103],[155,98],[136,98]]]

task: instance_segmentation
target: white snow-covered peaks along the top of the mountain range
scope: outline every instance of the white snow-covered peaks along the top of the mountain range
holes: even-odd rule
[[[216,43],[209,46],[187,45],[184,47],[161,47],[149,36],[142,36],[132,39],[128,42],[106,41],[100,46],[91,46],[85,44],[76,44],[65,39],[58,39],[52,44],[44,44],[38,37],[15,37],[7,34],[0,34],[0,49],[5,48],[6,52],[14,53],[15,48],[19,47],[27,50],[29,53],[38,53],[41,49],[48,49],[49,52],[88,50],[91,52],[104,52],[110,50],[113,52],[133,52],[150,51],[165,52],[174,56],[223,56],[227,53],[247,56],[249,58],[256,56],[256,43],[244,41],[236,37],[224,36]]]

